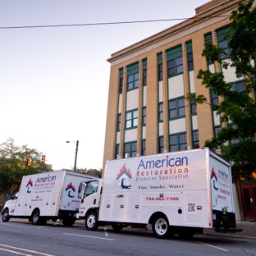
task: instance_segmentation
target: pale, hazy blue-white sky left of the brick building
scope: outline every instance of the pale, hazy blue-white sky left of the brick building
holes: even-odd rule
[[[14,139],[61,170],[74,167],[78,140],[76,167],[103,168],[107,58],[206,2],[0,0],[0,144]],[[124,21],[155,22],[80,25]],[[79,26],[10,28],[42,25]]]

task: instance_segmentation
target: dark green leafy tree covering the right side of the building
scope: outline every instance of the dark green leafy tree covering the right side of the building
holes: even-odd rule
[[[217,134],[216,138],[208,139],[205,146],[216,149],[221,146],[221,154],[232,162],[233,178],[240,176],[246,179],[256,170],[256,8],[252,9],[254,0],[231,12],[231,26],[225,35],[230,53],[225,48],[218,48],[212,42],[204,44],[202,56],[207,61],[218,62],[223,69],[235,68],[237,78],[245,78],[245,91],[232,90],[232,83],[227,83],[223,72],[199,70],[197,78],[202,85],[213,89],[214,94],[224,100],[219,106],[212,106],[220,116],[221,123],[229,124]],[[229,61],[223,61],[228,57]],[[196,96],[196,97],[195,97]],[[196,103],[207,103],[204,95],[188,94],[186,99],[195,97]]]

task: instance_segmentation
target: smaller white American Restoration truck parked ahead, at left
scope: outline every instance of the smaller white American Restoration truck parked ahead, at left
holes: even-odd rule
[[[32,224],[62,220],[72,226],[84,194],[87,176],[75,171],[50,171],[23,176],[19,192],[2,208],[2,222],[27,218]]]

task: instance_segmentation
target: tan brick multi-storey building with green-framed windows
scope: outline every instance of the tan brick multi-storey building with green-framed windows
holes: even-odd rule
[[[130,158],[203,147],[222,128],[209,104],[195,106],[187,93],[203,94],[219,103],[197,80],[199,69],[220,71],[202,57],[207,40],[226,48],[223,35],[240,0],[213,0],[195,9],[195,16],[113,53],[103,167],[107,159]],[[246,1],[245,1],[246,2]],[[234,89],[244,80],[224,71]],[[241,208],[241,207],[240,207]],[[256,212],[255,212],[256,217]]]

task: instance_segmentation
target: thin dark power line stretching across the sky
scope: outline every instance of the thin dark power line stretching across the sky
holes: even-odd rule
[[[229,17],[229,16],[205,16],[205,17],[192,17],[193,19],[208,19],[217,17]],[[37,29],[37,28],[56,28],[56,27],[71,27],[71,26],[85,26],[85,25],[121,25],[121,24],[133,24],[133,23],[147,23],[147,22],[160,22],[160,21],[185,21],[192,18],[179,18],[179,19],[164,19],[164,20],[148,20],[148,21],[117,21],[117,22],[98,22],[98,23],[82,23],[82,24],[62,24],[62,25],[23,25],[23,26],[6,26],[0,27],[0,30],[11,29]]]

